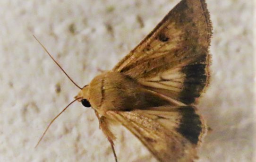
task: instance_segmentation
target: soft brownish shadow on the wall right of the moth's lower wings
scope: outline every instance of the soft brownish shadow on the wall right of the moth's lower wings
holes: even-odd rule
[[[243,106],[239,97],[232,100],[227,98],[208,95],[198,106],[207,125],[212,129],[205,136],[199,152],[202,162],[205,158],[207,161],[214,161],[216,158],[226,161],[227,158],[235,160],[239,155],[252,155],[255,142],[253,108]]]

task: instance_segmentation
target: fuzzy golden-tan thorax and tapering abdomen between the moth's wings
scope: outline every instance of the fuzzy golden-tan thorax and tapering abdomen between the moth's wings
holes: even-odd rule
[[[95,77],[88,87],[88,100],[99,112],[129,111],[170,104],[119,72],[103,73]]]

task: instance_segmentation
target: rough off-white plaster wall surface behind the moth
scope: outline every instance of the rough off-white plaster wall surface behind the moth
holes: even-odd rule
[[[113,162],[92,109],[34,40],[78,85],[111,69],[179,0],[0,0],[0,162]],[[213,129],[199,162],[251,162],[254,152],[253,1],[207,0],[213,21],[212,82],[198,108]],[[119,162],[156,162],[116,127]]]

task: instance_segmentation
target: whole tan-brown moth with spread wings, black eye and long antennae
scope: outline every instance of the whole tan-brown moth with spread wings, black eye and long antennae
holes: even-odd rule
[[[83,87],[70,78],[80,89],[73,102],[94,109],[116,162],[111,122],[130,130],[159,162],[197,158],[207,126],[195,104],[209,84],[211,36],[205,0],[181,0],[113,69]]]

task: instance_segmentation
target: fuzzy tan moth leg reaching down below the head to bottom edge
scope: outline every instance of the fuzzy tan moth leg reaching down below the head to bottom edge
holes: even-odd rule
[[[116,155],[115,148],[114,148],[114,142],[113,142],[116,139],[116,137],[113,135],[113,133],[109,129],[109,123],[108,123],[108,120],[106,117],[101,116],[99,121],[100,121],[100,128],[102,129],[102,132],[104,133],[105,136],[107,136],[107,138],[110,142],[112,151],[114,153],[115,161],[118,162],[117,155]]]

